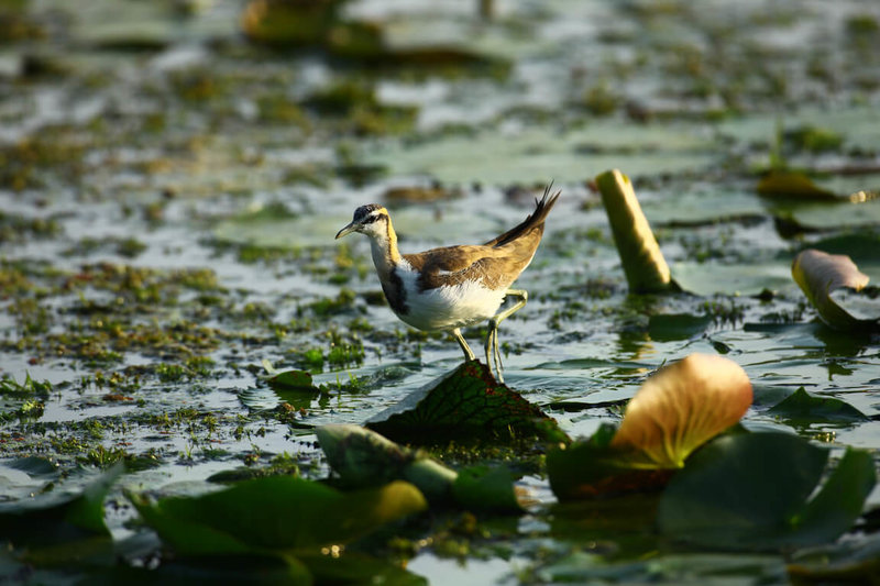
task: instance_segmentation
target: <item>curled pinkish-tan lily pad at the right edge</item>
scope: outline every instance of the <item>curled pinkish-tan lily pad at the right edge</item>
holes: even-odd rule
[[[822,321],[835,330],[870,330],[880,324],[878,319],[853,316],[832,295],[846,289],[860,291],[868,285],[868,275],[860,272],[849,256],[807,248],[794,257],[791,273]]]

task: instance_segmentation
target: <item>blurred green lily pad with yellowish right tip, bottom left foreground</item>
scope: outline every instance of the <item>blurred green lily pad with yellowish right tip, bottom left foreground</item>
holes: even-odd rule
[[[408,483],[345,494],[292,476],[246,480],[195,498],[130,498],[162,540],[186,556],[317,550],[426,507]]]

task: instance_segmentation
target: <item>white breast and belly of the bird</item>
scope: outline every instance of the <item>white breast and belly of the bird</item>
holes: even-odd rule
[[[397,317],[419,330],[451,330],[485,321],[504,301],[505,289],[493,290],[475,281],[419,291],[418,274],[406,262],[397,266],[397,274],[408,310]]]

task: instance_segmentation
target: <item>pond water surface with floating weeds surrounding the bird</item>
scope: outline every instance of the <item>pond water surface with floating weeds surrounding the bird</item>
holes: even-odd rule
[[[148,533],[123,489],[201,494],[218,473],[279,463],[327,476],[315,427],[363,423],[461,362],[450,335],[394,317],[366,239],[336,232],[380,202],[403,252],[484,242],[551,180],[562,199],[517,281],[529,302],[501,328],[512,388],[588,435],[619,420],[600,405],[659,366],[719,353],[759,397],[804,387],[868,416],[792,427],[759,401],[747,428],[877,458],[878,338],[822,324],[790,268],[816,246],[880,281],[876,2],[510,0],[490,19],[477,2],[346,3],[340,22],[385,35],[378,60],[268,48],[243,34],[244,8],[0,3],[0,374],[51,387],[0,394],[2,500],[75,489],[123,460],[107,519],[121,540]],[[779,166],[839,200],[760,197]],[[592,181],[610,168],[634,179],[688,294],[628,295]],[[857,191],[864,201],[847,199]],[[322,391],[279,395],[264,360],[312,372]],[[54,472],[23,472],[32,456]],[[431,584],[788,579],[781,554],[578,529],[540,474],[519,485],[528,515],[455,540],[438,520],[409,572]],[[875,489],[866,510],[878,506]]]

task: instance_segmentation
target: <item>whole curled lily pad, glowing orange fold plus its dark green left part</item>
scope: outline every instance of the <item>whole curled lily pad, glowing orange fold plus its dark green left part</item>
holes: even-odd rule
[[[697,447],[736,424],[752,400],[743,368],[692,354],[660,369],[629,401],[618,429],[550,450],[547,472],[561,500],[664,486]]]

